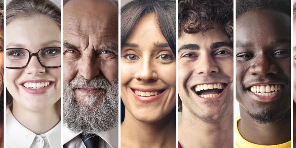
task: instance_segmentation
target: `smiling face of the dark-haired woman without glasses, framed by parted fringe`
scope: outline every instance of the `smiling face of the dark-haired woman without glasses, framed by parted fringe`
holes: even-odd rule
[[[126,112],[156,122],[176,106],[176,58],[153,13],[143,15],[121,45],[121,98]]]

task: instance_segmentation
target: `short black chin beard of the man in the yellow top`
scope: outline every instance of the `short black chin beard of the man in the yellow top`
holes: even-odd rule
[[[276,114],[276,112],[273,112],[272,110],[265,110],[265,109],[262,109],[260,112],[253,113],[253,114],[250,113],[249,110],[247,110],[247,113],[257,123],[273,124],[291,115],[291,109],[287,110],[286,112],[282,112],[280,115]]]

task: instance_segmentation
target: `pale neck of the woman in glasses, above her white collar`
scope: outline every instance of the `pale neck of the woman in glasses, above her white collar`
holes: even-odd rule
[[[42,111],[33,111],[13,99],[12,114],[25,128],[37,135],[44,134],[59,123],[58,102]]]

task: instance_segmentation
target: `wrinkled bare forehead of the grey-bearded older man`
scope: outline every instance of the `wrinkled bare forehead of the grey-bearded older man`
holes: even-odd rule
[[[71,0],[64,6],[63,21],[64,40],[81,46],[118,44],[118,9],[106,1]]]

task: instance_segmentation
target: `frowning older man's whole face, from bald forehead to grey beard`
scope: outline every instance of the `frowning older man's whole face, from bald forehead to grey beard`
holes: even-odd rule
[[[118,8],[104,0],[64,5],[64,121],[74,132],[117,125]]]

